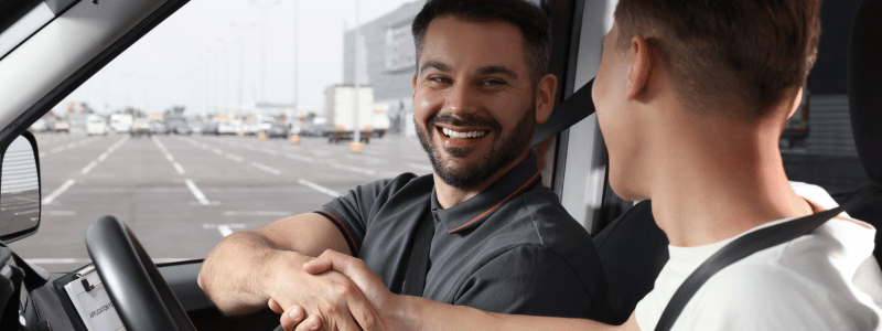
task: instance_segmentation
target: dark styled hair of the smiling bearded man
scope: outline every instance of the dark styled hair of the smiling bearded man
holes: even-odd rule
[[[535,4],[524,0],[429,0],[417,18],[411,32],[417,45],[417,70],[429,24],[440,15],[451,14],[469,22],[508,22],[520,29],[526,41],[527,64],[534,83],[548,72],[551,57],[551,28],[548,17]]]

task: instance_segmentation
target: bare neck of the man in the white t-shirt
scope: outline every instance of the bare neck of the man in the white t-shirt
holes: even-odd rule
[[[811,213],[790,189],[773,132],[749,132],[731,121],[704,125],[677,132],[678,147],[655,156],[662,161],[649,193],[653,215],[673,246],[712,244]]]

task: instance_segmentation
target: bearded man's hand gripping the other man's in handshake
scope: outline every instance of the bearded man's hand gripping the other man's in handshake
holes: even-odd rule
[[[303,330],[318,330],[321,324],[325,324],[325,330],[376,330],[377,313],[356,284],[334,271],[308,275],[301,269],[300,257],[302,255],[291,253],[273,264],[276,271],[266,285],[270,309],[281,313],[281,307],[297,305],[294,311],[299,317],[314,314],[318,324],[304,323]],[[282,321],[287,317],[290,316],[282,314]],[[310,325],[315,328],[308,328]]]

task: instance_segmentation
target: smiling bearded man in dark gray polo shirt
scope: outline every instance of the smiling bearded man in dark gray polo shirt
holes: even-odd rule
[[[434,172],[359,185],[319,212],[235,233],[206,258],[200,286],[227,313],[272,299],[352,327],[351,314],[370,310],[355,285],[300,268],[333,249],[364,259],[397,293],[497,312],[599,316],[600,259],[541,184],[530,149],[557,86],[546,71],[547,18],[521,0],[431,1],[413,32],[415,125]],[[420,242],[423,223],[433,235]],[[430,249],[424,288],[415,293],[406,276],[416,245]]]

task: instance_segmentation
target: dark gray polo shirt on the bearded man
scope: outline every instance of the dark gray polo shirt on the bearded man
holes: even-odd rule
[[[351,190],[319,214],[353,254],[401,293],[417,224],[434,221],[423,297],[482,310],[600,318],[606,288],[591,236],[541,184],[536,151],[484,192],[450,209],[432,175],[404,173]]]

